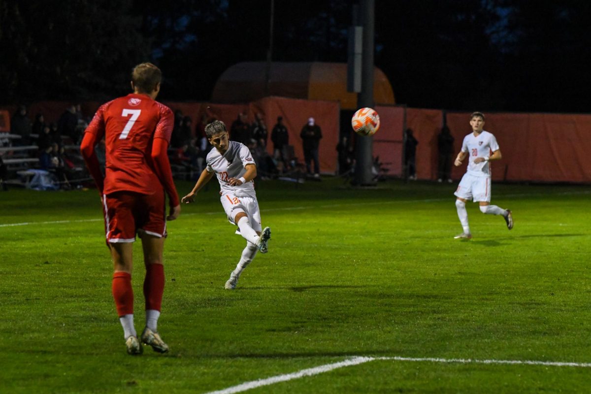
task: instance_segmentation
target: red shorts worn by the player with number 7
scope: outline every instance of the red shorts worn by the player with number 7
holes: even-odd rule
[[[164,191],[140,194],[117,191],[103,195],[107,242],[134,242],[137,232],[166,236]]]

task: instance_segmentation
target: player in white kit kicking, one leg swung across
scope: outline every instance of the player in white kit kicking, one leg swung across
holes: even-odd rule
[[[205,126],[205,134],[213,149],[207,154],[206,168],[193,190],[181,202],[192,203],[195,194],[213,178],[213,174],[217,175],[223,209],[229,222],[238,226],[236,233],[246,239],[246,248],[242,250],[240,261],[225,285],[231,290],[236,288],[240,274],[254,259],[256,252],[267,253],[271,229],[265,227],[261,230],[261,212],[252,181],[256,177],[256,165],[251,152],[240,142],[229,141],[226,125],[221,121]]]

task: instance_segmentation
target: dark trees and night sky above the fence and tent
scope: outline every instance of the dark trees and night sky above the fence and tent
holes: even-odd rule
[[[274,61],[347,59],[354,0],[275,0]],[[105,100],[130,68],[164,71],[163,100],[207,100],[264,61],[270,0],[0,0],[0,102]],[[591,3],[376,0],[376,66],[398,103],[586,112]]]

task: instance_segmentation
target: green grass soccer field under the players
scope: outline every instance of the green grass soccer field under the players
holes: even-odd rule
[[[210,183],[168,225],[158,329],[171,353],[138,357],[112,300],[98,193],[0,193],[0,392],[206,393],[355,356],[376,359],[248,392],[591,391],[591,187],[493,184],[515,228],[469,204],[468,241],[453,239],[455,187],[259,183],[269,253],[227,291],[244,241]]]

